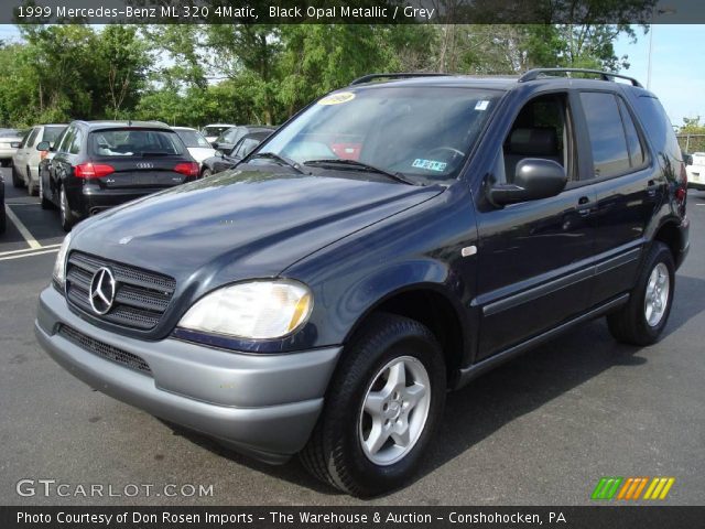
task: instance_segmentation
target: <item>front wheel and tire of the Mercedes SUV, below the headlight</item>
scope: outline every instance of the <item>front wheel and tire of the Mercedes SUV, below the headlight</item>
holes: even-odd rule
[[[399,367],[402,363],[403,368]],[[393,377],[392,373],[404,374],[404,389],[391,386],[388,377]],[[415,384],[406,386],[412,380]],[[410,391],[424,386],[424,381],[425,393]],[[398,488],[409,481],[445,404],[445,363],[431,331],[408,317],[372,315],[346,346],[329,388],[318,422],[300,454],[306,469],[318,479],[361,497]],[[381,398],[377,407],[371,406],[373,400],[368,395]],[[371,428],[371,412],[364,411],[366,402],[377,410],[380,439],[387,439],[399,424],[399,432],[383,444],[378,443],[379,449],[372,442],[378,436]],[[404,425],[409,428],[404,430]],[[408,438],[399,436],[404,431]]]

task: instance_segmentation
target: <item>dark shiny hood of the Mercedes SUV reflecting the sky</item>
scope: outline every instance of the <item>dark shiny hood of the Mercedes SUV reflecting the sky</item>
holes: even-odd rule
[[[166,273],[197,290],[278,276],[326,245],[420,204],[443,186],[227,171],[108,210],[72,249]]]

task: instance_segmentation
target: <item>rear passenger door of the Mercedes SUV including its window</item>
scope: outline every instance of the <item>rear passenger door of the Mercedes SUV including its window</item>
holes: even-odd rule
[[[633,284],[646,228],[663,201],[666,181],[619,94],[582,91],[579,97],[589,136],[589,152],[584,154],[592,160],[596,195],[590,304],[598,304]]]

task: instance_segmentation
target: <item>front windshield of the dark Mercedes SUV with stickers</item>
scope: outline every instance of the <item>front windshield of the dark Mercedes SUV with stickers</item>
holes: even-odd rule
[[[260,152],[302,165],[360,162],[417,183],[449,180],[457,176],[500,96],[452,87],[338,91],[312,105]],[[336,166],[351,168],[349,163]]]

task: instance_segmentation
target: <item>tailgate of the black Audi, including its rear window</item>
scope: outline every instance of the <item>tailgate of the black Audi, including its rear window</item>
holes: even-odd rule
[[[89,133],[87,148],[88,156],[99,176],[93,182],[104,188],[171,187],[193,176],[193,161],[173,131],[97,130]]]

